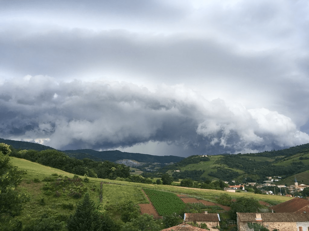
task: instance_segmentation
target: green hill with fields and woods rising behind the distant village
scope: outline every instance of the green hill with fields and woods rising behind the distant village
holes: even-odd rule
[[[304,177],[309,170],[309,144],[273,150],[269,152],[237,155],[189,156],[179,163],[165,166],[158,174],[167,172],[174,178],[193,180],[235,180],[235,184],[245,182],[263,183],[267,176],[278,176],[277,184],[292,184],[299,176],[302,184],[309,184]],[[305,172],[304,174],[302,174]]]

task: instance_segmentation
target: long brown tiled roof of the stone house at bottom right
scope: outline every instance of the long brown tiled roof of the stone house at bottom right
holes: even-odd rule
[[[308,213],[259,213],[262,221],[309,221]],[[239,221],[256,221],[256,213],[237,213]]]

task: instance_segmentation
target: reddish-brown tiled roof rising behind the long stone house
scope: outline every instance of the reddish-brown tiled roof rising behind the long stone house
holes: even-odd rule
[[[269,207],[275,213],[303,213],[309,214],[309,201],[304,198],[295,197],[292,200]],[[309,225],[308,225],[309,226]]]

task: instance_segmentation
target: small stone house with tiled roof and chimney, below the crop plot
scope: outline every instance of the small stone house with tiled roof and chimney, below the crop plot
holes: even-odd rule
[[[205,223],[208,228],[219,226],[220,216],[218,213],[185,213],[184,222]],[[216,230],[216,229],[212,229]]]

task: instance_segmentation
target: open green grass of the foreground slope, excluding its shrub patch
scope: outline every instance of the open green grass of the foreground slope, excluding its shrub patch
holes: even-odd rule
[[[67,176],[70,178],[73,178],[74,174],[15,157],[12,157],[11,161],[13,165],[18,166],[19,169],[27,172],[27,174],[24,175],[22,183],[18,186],[18,190],[22,193],[27,193],[29,201],[25,203],[21,216],[16,217],[16,219],[19,219],[24,225],[27,225],[30,224],[33,219],[40,218],[42,214],[47,214],[48,216],[68,217],[74,212],[76,204],[80,199],[66,196],[61,190],[61,195],[59,197],[54,197],[54,192],[53,195],[48,196],[44,194],[44,190],[42,189],[43,186],[47,184],[47,182],[43,182],[42,180],[45,177],[50,177],[51,174],[57,174],[63,177]],[[81,176],[81,178],[83,178],[83,176]],[[184,188],[175,185],[142,184],[91,177],[89,177],[89,179],[90,182],[83,184],[88,188],[91,199],[95,201],[96,205],[100,204],[99,194],[101,182],[104,183],[102,184],[102,205],[116,204],[117,202],[123,202],[126,200],[131,200],[137,204],[148,203],[141,188],[151,188],[170,193],[186,194],[212,202],[216,202],[216,198],[222,193],[227,193],[219,190]],[[260,195],[248,192],[228,194],[235,199],[243,196],[253,197],[259,201],[271,202],[271,204],[278,204],[292,199],[291,197]]]

